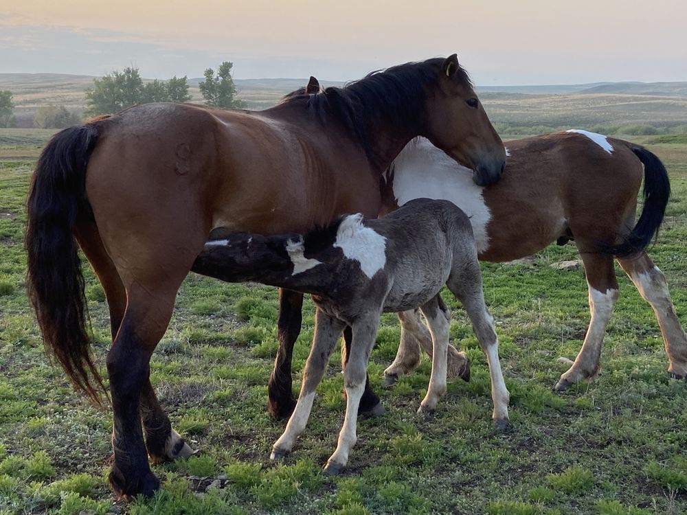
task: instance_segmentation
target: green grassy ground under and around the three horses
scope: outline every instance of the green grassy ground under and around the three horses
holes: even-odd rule
[[[201,454],[155,466],[164,487],[155,499],[113,506],[104,481],[111,415],[78,398],[63,371],[47,363],[25,297],[23,203],[32,165],[51,134],[0,130],[1,514],[687,512],[687,382],[668,378],[653,312],[619,269],[621,295],[598,380],[564,394],[551,390],[566,368],[557,358],[574,358],[589,319],[583,272],[549,266],[576,257],[570,244],[548,247],[526,264],[483,265],[512,431],[493,427],[486,361],[464,312],[444,295],[453,311],[451,341],[473,363],[471,381],[449,383],[436,415],[418,418],[429,362],[423,358],[416,373],[381,389],[400,336],[394,315],[385,315],[370,378],[387,413],[359,423],[349,468],[337,479],[324,477],[321,467],[345,407],[338,356],[293,454],[272,464],[271,445],[283,428],[265,410],[276,290],[190,275],[151,367],[172,424]],[[687,139],[637,140],[671,173],[673,198],[651,255],[687,324]],[[95,354],[104,364],[108,317],[89,270],[87,297]],[[297,381],[312,335],[308,303],[295,348]]]

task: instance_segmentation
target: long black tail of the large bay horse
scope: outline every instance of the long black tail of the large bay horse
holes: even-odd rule
[[[73,230],[92,216],[86,198],[86,166],[98,141],[91,124],[60,131],[38,159],[27,200],[27,293],[46,351],[67,372],[74,388],[100,404],[102,379],[91,357],[84,277]]]

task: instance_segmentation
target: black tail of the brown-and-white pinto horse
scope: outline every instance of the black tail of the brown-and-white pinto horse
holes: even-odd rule
[[[634,144],[627,146],[644,164],[644,208],[634,229],[624,241],[609,249],[618,258],[646,249],[663,222],[668,197],[671,196],[671,181],[661,160],[644,147]]]

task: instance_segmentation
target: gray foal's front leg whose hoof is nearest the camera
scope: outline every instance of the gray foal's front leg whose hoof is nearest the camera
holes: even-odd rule
[[[334,454],[324,467],[326,474],[341,473],[348,463],[348,454],[357,440],[358,406],[365,389],[365,371],[368,367],[370,352],[379,328],[379,313],[366,315],[353,324],[353,340],[346,370],[343,371],[343,382],[346,386],[346,417],[339,433],[339,442]]]

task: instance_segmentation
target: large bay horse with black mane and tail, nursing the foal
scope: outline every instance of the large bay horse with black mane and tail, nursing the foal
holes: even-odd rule
[[[27,293],[47,350],[98,402],[78,247],[102,283],[117,496],[159,488],[148,455],[192,452],[159,405],[149,362],[210,231],[303,232],[341,213],[376,216],[383,170],[418,135],[477,183],[503,173],[503,142],[455,54],[260,112],[133,106],[49,141],[27,200]]]

